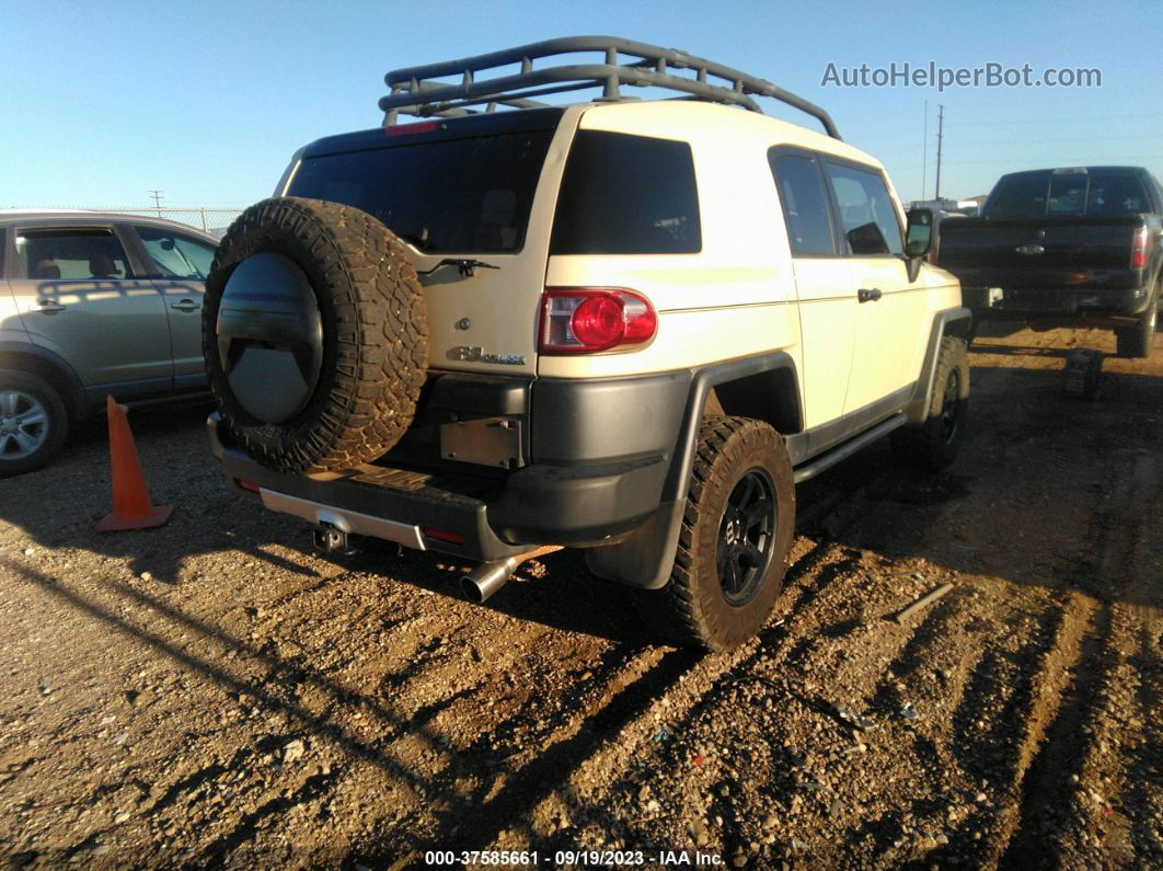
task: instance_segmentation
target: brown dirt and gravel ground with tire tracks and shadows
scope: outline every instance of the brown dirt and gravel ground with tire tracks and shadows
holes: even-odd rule
[[[880,445],[801,487],[771,622],[715,656],[654,643],[569,551],[487,606],[430,555],[321,558],[224,488],[205,408],[134,413],[177,507],[98,535],[87,426],[0,481],[0,854],[1163,865],[1163,337],[1090,402],[1064,355],[1112,334],[1004,333],[973,348],[957,463],[927,477]]]

